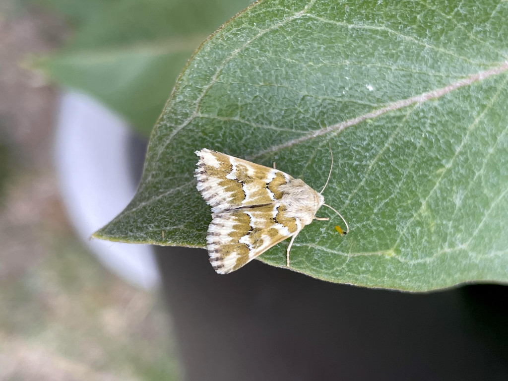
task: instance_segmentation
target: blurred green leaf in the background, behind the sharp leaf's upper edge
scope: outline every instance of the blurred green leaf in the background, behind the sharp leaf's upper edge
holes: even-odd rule
[[[201,42],[248,0],[39,0],[78,24],[67,47],[38,63],[126,117],[145,136]]]

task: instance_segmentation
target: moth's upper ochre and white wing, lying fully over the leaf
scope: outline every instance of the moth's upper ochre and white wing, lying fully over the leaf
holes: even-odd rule
[[[210,149],[196,155],[198,190],[213,213],[280,200],[279,186],[292,179],[282,171]]]

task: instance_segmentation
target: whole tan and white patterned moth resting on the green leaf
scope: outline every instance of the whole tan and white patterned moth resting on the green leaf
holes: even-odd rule
[[[330,149],[331,152],[331,149]],[[242,160],[225,153],[202,149],[195,177],[197,188],[212,207],[212,221],[206,237],[210,263],[219,274],[238,270],[270,247],[291,237],[286,257],[289,267],[290,250],[298,233],[316,217],[321,206],[337,213],[325,204],[322,193],[317,193],[303,180],[274,168]],[[342,233],[342,230],[340,230]]]

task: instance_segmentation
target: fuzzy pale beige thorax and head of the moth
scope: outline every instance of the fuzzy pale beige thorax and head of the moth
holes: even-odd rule
[[[281,202],[286,208],[285,215],[299,218],[304,225],[312,222],[317,209],[325,202],[321,194],[300,179],[291,179],[279,189],[283,193]]]

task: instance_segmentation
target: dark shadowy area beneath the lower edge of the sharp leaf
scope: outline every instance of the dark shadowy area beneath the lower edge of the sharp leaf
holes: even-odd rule
[[[188,381],[506,380],[507,289],[404,294],[157,247]]]

